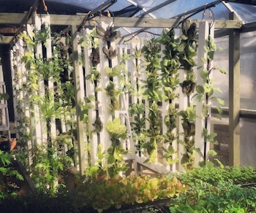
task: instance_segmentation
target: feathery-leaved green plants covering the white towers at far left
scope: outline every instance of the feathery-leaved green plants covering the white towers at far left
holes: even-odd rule
[[[19,36],[28,47],[21,58],[27,77],[16,90],[17,111],[20,113],[18,145],[22,152],[19,160],[31,173],[39,190],[49,190],[54,194],[58,190],[58,183],[61,185],[63,171],[75,162],[73,142],[76,141],[76,133],[73,131],[75,125],[71,119],[71,115],[75,115],[75,90],[70,76],[73,71],[72,57],[67,56],[71,50],[70,36],[68,33],[55,34],[51,38],[54,47],[51,57],[46,57],[44,51],[46,41],[50,39],[50,27],[43,25],[39,31],[34,30],[31,34],[22,33]],[[39,44],[44,44],[42,55],[34,54],[37,53]],[[18,81],[19,75],[20,72],[17,71],[15,81]],[[19,99],[21,92],[24,100]],[[25,102],[25,110],[21,101]],[[30,118],[26,116],[28,113]],[[67,114],[69,116],[65,116]],[[51,133],[53,119],[56,120],[56,136]],[[42,126],[41,139],[35,139],[34,136],[38,122],[45,124]],[[59,131],[58,122],[69,125],[70,131]],[[28,146],[29,142],[33,144],[31,147]]]

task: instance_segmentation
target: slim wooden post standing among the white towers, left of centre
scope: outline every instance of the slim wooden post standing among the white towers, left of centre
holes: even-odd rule
[[[77,124],[77,139],[78,139],[78,158],[80,174],[85,174],[86,171],[86,145],[83,142],[83,120],[80,120],[83,75],[80,76],[80,67],[78,61],[78,38],[77,27],[72,25],[72,47],[73,47],[73,66],[74,66],[74,80],[75,80],[75,109],[76,109],[76,124]]]

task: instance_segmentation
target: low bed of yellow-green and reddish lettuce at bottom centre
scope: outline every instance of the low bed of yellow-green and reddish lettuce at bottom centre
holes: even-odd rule
[[[76,204],[80,208],[91,206],[102,212],[113,206],[120,209],[124,204],[142,204],[178,196],[186,187],[176,177],[98,176],[87,177],[77,188]]]

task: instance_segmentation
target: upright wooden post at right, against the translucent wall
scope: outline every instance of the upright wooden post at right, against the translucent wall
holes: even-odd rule
[[[230,19],[236,15],[230,13]],[[240,33],[233,29],[229,36],[229,134],[230,166],[240,165]]]

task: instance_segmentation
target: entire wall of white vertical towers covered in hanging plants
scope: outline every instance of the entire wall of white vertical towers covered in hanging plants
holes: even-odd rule
[[[138,165],[163,173],[214,154],[211,101],[222,101],[211,82],[213,26],[201,24],[199,44],[189,22],[179,39],[166,30],[125,44],[111,22],[54,36],[51,27],[49,15],[35,15],[11,54],[15,128],[28,171],[51,178],[75,166],[111,176],[132,160],[136,174]],[[46,172],[54,165],[59,170]]]

